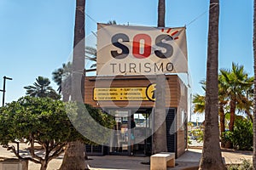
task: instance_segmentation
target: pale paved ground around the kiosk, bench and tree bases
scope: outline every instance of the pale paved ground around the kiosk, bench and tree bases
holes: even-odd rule
[[[23,144],[23,148],[26,145]],[[22,146],[21,146],[22,149]],[[26,152],[22,152],[22,154],[26,155]],[[253,152],[252,151],[235,151],[235,150],[223,150],[222,156],[227,164],[230,163],[239,163],[241,159],[252,160]],[[10,151],[6,150],[3,147],[0,147],[0,157],[13,157],[15,155]],[[63,155],[49,161],[48,170],[56,170],[61,166]],[[134,170],[147,170],[149,169],[148,164],[143,164],[142,162],[148,162],[149,157],[137,157],[137,156],[89,156],[90,160],[87,161],[90,165],[91,169],[99,170],[99,169],[134,169]],[[183,167],[189,166],[198,166],[201,158],[201,150],[200,149],[189,149],[187,150],[183,156],[177,158],[176,167],[170,167],[168,170],[177,170],[182,169]],[[29,170],[37,170],[40,169],[39,164],[35,164],[33,162],[29,162]]]

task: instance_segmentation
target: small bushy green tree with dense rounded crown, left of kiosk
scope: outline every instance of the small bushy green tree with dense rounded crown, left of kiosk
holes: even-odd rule
[[[1,108],[0,144],[7,146],[19,159],[39,163],[40,169],[45,170],[49,161],[61,155],[68,142],[80,140],[91,144],[76,131],[67,117],[67,112],[69,116],[76,116],[77,110],[75,103],[64,104],[60,100],[49,98],[22,97]],[[111,126],[111,123],[107,123],[110,119],[101,111],[90,107],[90,112],[98,122]],[[10,144],[15,139],[27,139],[30,156],[20,156],[15,146]],[[43,156],[37,155],[35,144],[43,147]]]

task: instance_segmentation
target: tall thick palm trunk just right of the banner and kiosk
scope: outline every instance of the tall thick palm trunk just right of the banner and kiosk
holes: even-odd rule
[[[199,167],[201,170],[224,169],[218,130],[218,17],[219,2],[218,0],[210,0],[205,132]]]

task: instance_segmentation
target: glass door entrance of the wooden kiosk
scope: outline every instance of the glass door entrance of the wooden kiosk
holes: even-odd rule
[[[149,118],[152,109],[109,110],[115,117],[115,131],[110,139],[111,155],[151,154],[152,122]]]

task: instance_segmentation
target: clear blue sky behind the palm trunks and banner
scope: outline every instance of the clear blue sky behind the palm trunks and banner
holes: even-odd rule
[[[156,26],[157,2],[86,0],[91,17],[86,17],[86,35],[96,31],[96,22],[108,20]],[[209,0],[166,0],[166,27],[187,26],[193,94],[203,94],[199,82],[206,77],[208,5]],[[6,102],[25,95],[23,87],[36,77],[51,79],[51,72],[67,61],[73,48],[74,9],[74,0],[0,0],[0,78],[13,78],[6,84]],[[235,62],[253,76],[252,39],[253,0],[220,0],[219,68]]]

